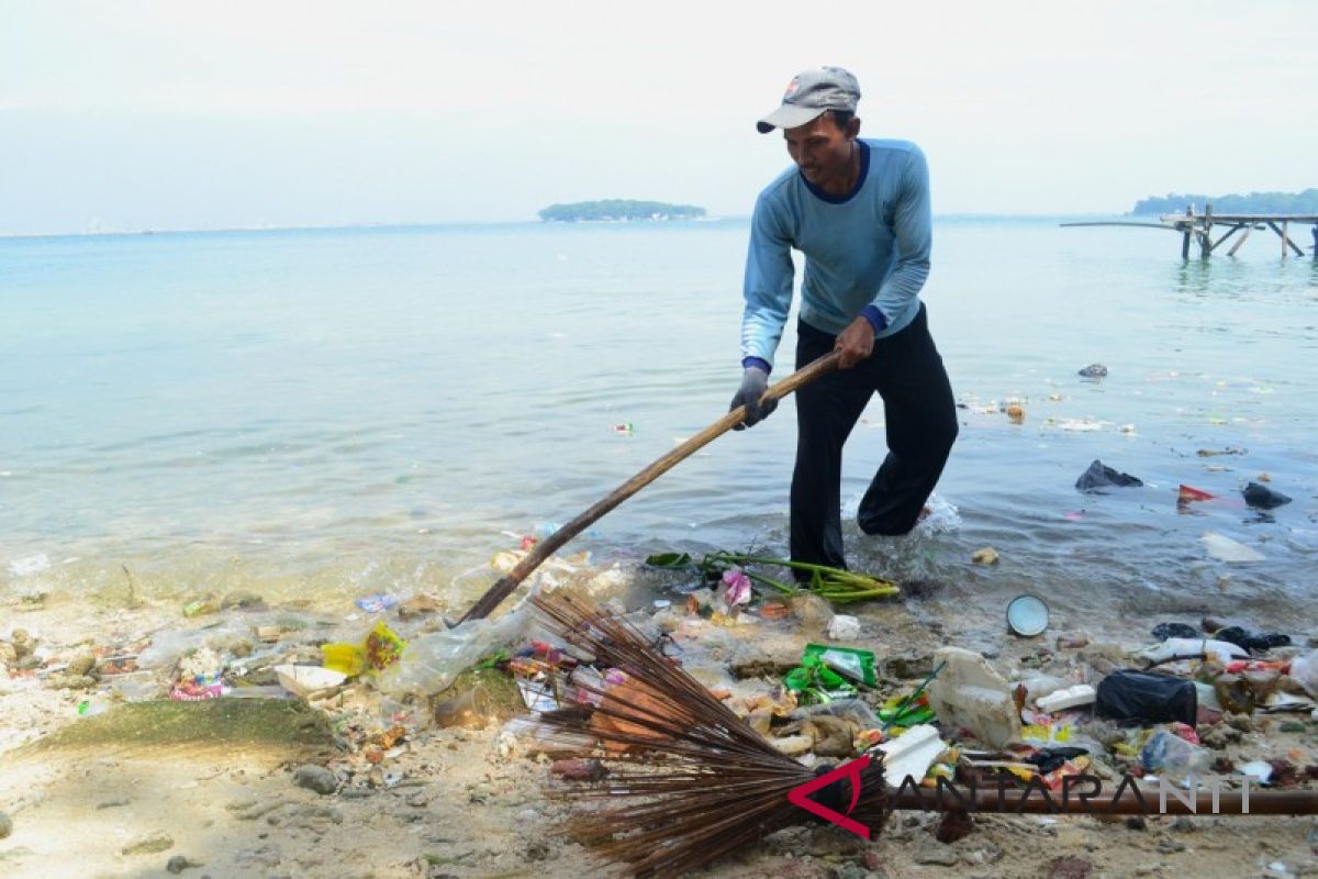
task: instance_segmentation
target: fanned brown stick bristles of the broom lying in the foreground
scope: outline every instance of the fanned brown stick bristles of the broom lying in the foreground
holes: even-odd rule
[[[604,783],[569,783],[556,792],[579,809],[567,824],[575,838],[635,875],[667,876],[817,820],[787,799],[815,772],[764,741],[631,623],[564,590],[531,601],[564,642],[629,679],[612,688],[580,685],[580,704],[540,716],[547,738],[593,737],[621,763]],[[876,834],[887,814],[875,760],[861,776],[849,817]]]

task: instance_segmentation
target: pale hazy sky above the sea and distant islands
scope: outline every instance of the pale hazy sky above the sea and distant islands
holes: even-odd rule
[[[799,70],[937,213],[1318,186],[1313,0],[0,0],[0,233],[746,216]]]

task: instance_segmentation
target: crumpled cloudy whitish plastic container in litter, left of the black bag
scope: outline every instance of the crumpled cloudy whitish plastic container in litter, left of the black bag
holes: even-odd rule
[[[1020,738],[1020,714],[1011,687],[988,660],[961,647],[942,647],[933,664],[942,664],[929,685],[929,705],[940,722],[962,726],[991,747]]]

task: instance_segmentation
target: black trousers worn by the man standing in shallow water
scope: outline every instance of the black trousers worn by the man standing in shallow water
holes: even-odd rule
[[[833,351],[836,336],[797,323],[796,368]],[[957,439],[957,410],[924,304],[908,327],[874,341],[851,369],[796,391],[796,469],[792,473],[793,561],[845,568],[842,444],[873,394],[883,398],[888,455],[861,501],[866,534],[907,534],[938,482]]]

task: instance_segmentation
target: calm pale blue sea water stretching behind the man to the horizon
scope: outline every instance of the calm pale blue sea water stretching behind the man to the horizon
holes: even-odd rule
[[[165,594],[456,589],[463,605],[492,579],[463,573],[514,546],[505,532],[572,518],[722,415],[746,236],[713,221],[0,240],[0,590],[132,576]],[[1236,258],[1182,264],[1180,240],[1148,229],[938,221],[924,299],[966,406],[937,493],[957,514],[896,540],[849,525],[854,564],[934,577],[949,605],[991,614],[1023,590],[1064,614],[1310,613],[1318,268],[1278,250],[1260,233]],[[1108,376],[1081,378],[1090,362]],[[1020,424],[996,411],[1011,398]],[[875,402],[847,445],[851,509],[882,422]],[[788,403],[580,548],[784,553],[793,448]],[[1094,459],[1145,488],[1078,493]],[[1271,515],[1240,502],[1263,473],[1294,498]],[[1178,510],[1181,482],[1224,499]],[[1214,560],[1206,531],[1265,560]],[[970,563],[985,546],[996,567]]]

